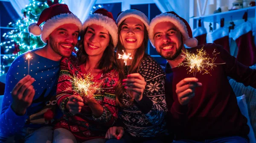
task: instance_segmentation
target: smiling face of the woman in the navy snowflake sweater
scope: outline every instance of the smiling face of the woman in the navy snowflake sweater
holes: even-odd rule
[[[128,17],[121,26],[119,39],[121,44],[127,50],[140,48],[144,39],[144,24],[141,20]]]

